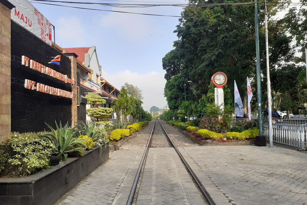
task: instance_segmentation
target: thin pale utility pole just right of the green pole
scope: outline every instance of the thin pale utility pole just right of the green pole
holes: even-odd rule
[[[266,79],[268,93],[268,118],[269,118],[269,140],[270,147],[273,147],[273,125],[272,125],[272,95],[271,95],[271,80],[270,80],[270,65],[269,65],[269,37],[268,37],[268,16],[266,10],[266,0],[264,0],[264,18],[266,27]]]

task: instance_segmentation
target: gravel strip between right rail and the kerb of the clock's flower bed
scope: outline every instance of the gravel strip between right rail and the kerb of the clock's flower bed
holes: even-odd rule
[[[198,147],[199,144],[194,143],[192,140],[188,139],[184,134],[178,131],[177,128],[174,128],[172,125],[169,125],[164,120],[159,120],[163,125],[166,132],[169,134],[169,138],[174,142],[177,147]],[[158,122],[157,122],[158,123]]]

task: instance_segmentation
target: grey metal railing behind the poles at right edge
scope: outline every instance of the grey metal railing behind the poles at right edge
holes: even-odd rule
[[[273,142],[286,144],[297,148],[307,147],[307,124],[283,124],[294,123],[292,121],[273,120]],[[301,123],[301,122],[297,122]],[[263,123],[263,134],[269,140],[268,123]]]

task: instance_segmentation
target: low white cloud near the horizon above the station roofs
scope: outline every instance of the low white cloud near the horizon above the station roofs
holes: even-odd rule
[[[105,70],[102,70],[102,76],[117,89],[120,89],[126,82],[138,86],[143,93],[142,106],[144,110],[148,108],[149,111],[152,106],[163,108],[163,106],[167,105],[166,98],[164,97],[164,86],[166,83],[164,73],[152,71],[142,74],[133,73],[130,70],[107,73]]]

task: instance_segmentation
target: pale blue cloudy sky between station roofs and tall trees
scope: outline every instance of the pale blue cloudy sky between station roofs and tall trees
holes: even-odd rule
[[[32,3],[31,0],[29,1]],[[161,0],[130,1],[162,2]],[[110,0],[91,0],[90,2],[137,3]],[[187,3],[185,0],[167,0],[167,2]],[[95,45],[99,64],[103,69],[103,78],[118,89],[126,82],[138,86],[143,93],[144,110],[149,111],[151,106],[163,108],[167,105],[164,97],[166,80],[165,71],[162,69],[162,57],[173,49],[173,41],[178,40],[173,31],[179,23],[179,18],[32,4],[55,26],[56,44],[63,48]],[[68,6],[84,7],[80,4]],[[95,5],[87,7],[176,16],[180,16],[182,12],[182,7],[175,6],[115,8]]]

